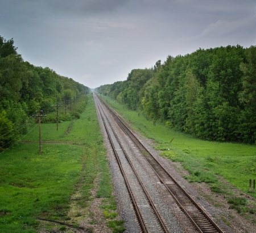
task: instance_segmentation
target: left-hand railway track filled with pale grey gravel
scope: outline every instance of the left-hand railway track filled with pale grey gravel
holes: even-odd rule
[[[118,136],[115,134],[112,124],[104,114],[104,110],[102,110],[97,98],[96,104],[100,111],[110,144],[112,145],[118,167],[125,180],[142,232],[170,232],[164,224],[158,210],[156,210],[154,202],[144,187],[141,178],[139,178],[139,175],[131,163],[129,156],[127,156],[125,149],[123,149]],[[125,167],[125,169],[123,167]]]

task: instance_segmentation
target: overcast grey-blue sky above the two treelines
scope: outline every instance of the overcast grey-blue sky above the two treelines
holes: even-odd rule
[[[255,0],[0,0],[25,61],[88,86],[199,48],[256,45]]]

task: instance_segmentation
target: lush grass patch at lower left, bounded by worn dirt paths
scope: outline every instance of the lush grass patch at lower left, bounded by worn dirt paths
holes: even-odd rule
[[[0,157],[0,232],[35,232],[35,216],[67,215],[80,178],[83,149],[72,145],[22,144]],[[27,229],[26,229],[27,228]],[[22,229],[22,230],[20,230]]]

